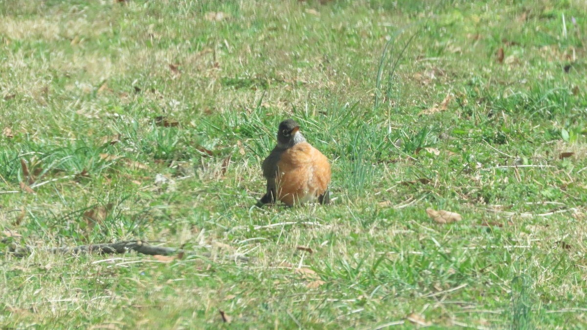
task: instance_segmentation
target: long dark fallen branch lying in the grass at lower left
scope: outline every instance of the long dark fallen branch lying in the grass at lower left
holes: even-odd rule
[[[25,255],[30,254],[36,247],[32,247],[30,245],[26,245],[25,247],[13,247],[11,248],[11,252],[13,252],[18,257],[24,257]],[[124,254],[129,251],[135,251],[140,254],[146,255],[174,255],[183,253],[184,255],[199,255],[201,257],[216,257],[216,255],[212,255],[210,252],[195,252],[195,251],[185,251],[183,249],[177,248],[170,248],[170,247],[160,247],[156,245],[151,245],[147,242],[141,240],[134,240],[134,241],[119,241],[115,243],[101,243],[101,244],[88,244],[88,245],[79,245],[76,247],[57,247],[57,248],[50,248],[47,251],[52,252],[54,254],[73,254],[73,255],[80,255],[80,254]],[[242,255],[218,255],[222,259],[226,260],[234,260],[234,261],[242,261],[248,262],[248,257],[243,257]]]

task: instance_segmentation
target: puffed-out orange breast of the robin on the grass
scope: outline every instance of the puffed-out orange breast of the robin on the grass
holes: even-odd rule
[[[288,205],[305,203],[325,193],[330,183],[330,163],[307,142],[286,150],[278,164],[277,197]]]

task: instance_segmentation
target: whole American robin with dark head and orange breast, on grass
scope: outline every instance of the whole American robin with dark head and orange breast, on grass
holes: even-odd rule
[[[306,142],[299,125],[292,119],[279,124],[277,146],[263,161],[263,176],[267,179],[267,193],[258,207],[281,200],[288,206],[318,198],[319,203],[330,200],[330,163],[318,149]]]

